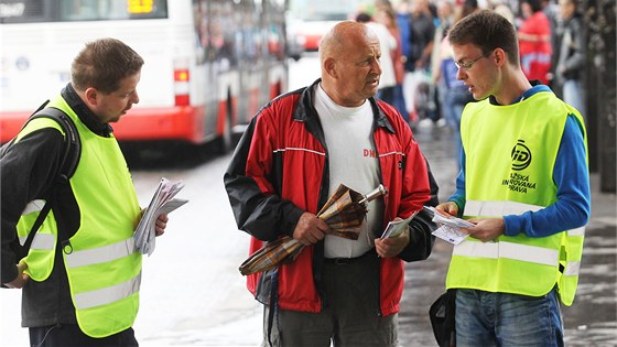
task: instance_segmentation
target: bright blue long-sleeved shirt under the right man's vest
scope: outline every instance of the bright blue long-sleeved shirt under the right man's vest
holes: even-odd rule
[[[520,102],[535,93],[551,91],[544,85],[526,90],[515,102]],[[496,100],[491,97],[491,104]],[[558,200],[538,212],[504,216],[506,236],[524,234],[528,237],[546,237],[587,224],[592,206],[589,172],[583,130],[575,116],[567,116],[561,139],[553,181],[558,186]],[[456,177],[456,192],[448,200],[458,207],[465,206],[465,151],[461,153],[461,172]]]

